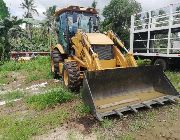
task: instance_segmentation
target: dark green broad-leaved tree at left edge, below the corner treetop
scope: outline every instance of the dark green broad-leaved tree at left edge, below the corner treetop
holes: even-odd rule
[[[0,60],[4,61],[10,58],[10,51],[12,49],[10,39],[16,38],[21,32],[19,27],[23,21],[17,17],[5,18],[0,21]]]

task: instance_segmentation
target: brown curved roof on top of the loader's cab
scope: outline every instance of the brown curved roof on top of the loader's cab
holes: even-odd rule
[[[91,14],[98,14],[97,10],[95,8],[85,8],[85,7],[79,7],[79,6],[69,6],[60,10],[57,10],[55,12],[55,16],[59,16],[62,13],[65,12],[85,12],[85,13],[91,13]]]

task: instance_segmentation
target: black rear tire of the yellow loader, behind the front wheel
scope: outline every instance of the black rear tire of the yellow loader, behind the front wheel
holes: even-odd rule
[[[63,58],[61,56],[61,53],[59,52],[59,50],[57,48],[55,48],[53,50],[53,54],[52,54],[52,59],[53,59],[53,63],[54,63],[54,79],[58,79],[59,78],[59,63],[63,62]]]

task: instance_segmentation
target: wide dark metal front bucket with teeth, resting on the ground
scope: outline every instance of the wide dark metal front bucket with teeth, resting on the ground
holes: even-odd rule
[[[179,97],[159,66],[86,71],[82,95],[100,121],[108,115],[122,116],[125,111],[175,102]]]

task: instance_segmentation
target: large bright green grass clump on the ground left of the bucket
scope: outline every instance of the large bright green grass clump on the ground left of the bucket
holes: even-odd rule
[[[70,101],[72,98],[72,93],[64,90],[63,88],[57,88],[50,90],[44,94],[28,97],[26,99],[26,102],[34,109],[42,110],[47,107],[55,106],[59,103]]]

